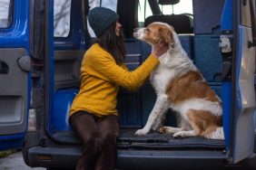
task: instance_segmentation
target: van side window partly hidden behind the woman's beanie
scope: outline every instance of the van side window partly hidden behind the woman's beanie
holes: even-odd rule
[[[90,6],[90,9],[93,9],[94,7],[97,7],[97,6],[103,6],[116,12],[117,0],[89,0],[89,6]],[[88,23],[88,20],[87,20],[87,28],[88,28],[88,33],[90,33],[91,37],[95,37],[94,31],[91,28],[90,24]]]

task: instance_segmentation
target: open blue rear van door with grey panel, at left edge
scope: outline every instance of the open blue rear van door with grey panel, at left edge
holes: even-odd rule
[[[0,0],[0,150],[21,147],[27,127],[28,18],[28,0]]]

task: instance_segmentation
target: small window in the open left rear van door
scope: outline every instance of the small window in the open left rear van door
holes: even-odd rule
[[[0,0],[0,28],[7,28],[12,23],[12,1]]]

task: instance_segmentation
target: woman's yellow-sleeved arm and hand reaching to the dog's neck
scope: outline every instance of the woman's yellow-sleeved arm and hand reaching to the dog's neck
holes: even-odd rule
[[[88,64],[91,68],[91,74],[103,76],[103,79],[113,81],[129,90],[136,90],[143,85],[143,82],[159,64],[158,57],[166,52],[167,48],[168,45],[164,43],[155,45],[152,54],[134,71],[128,71],[117,65],[113,57],[101,48],[88,53],[85,58],[85,65]]]

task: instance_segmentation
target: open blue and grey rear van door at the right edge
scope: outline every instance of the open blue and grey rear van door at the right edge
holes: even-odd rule
[[[234,3],[234,50],[230,147],[231,162],[237,163],[250,156],[254,146],[255,0],[232,1],[232,3]]]

